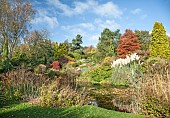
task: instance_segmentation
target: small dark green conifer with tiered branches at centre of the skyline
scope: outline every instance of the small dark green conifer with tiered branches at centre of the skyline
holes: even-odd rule
[[[78,34],[76,38],[72,40],[71,51],[82,53],[82,49],[83,49],[83,47],[81,46],[82,43],[83,43],[82,36]]]

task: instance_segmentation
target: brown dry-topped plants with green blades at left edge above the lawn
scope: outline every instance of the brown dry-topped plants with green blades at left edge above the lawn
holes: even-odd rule
[[[0,75],[7,100],[30,100],[39,95],[39,87],[48,82],[48,77],[35,75],[23,69]]]

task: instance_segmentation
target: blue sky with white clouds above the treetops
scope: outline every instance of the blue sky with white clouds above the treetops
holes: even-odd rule
[[[170,36],[170,0],[31,0],[36,9],[31,30],[48,30],[53,42],[82,35],[83,46],[96,46],[104,28],[147,30],[161,22]]]

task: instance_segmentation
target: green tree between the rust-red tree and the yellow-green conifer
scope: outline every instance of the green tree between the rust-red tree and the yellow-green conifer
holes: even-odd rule
[[[137,35],[139,39],[140,49],[144,51],[149,50],[149,43],[151,40],[151,35],[149,34],[149,31],[145,30],[135,30],[135,34]]]

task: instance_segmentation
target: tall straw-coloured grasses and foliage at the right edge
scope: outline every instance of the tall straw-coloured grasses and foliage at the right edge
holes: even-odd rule
[[[149,58],[143,65],[147,71],[138,93],[141,110],[145,115],[169,117],[170,62],[161,58]]]

